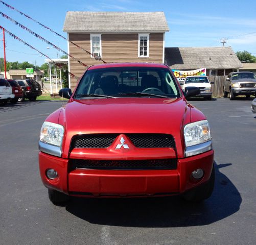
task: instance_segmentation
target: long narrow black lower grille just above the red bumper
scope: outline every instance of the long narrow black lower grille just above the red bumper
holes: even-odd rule
[[[71,159],[74,168],[112,169],[112,170],[143,170],[143,169],[176,169],[177,159],[148,160],[88,160]]]

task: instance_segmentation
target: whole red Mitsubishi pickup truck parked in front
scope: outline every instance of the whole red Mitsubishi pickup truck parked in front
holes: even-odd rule
[[[53,203],[71,196],[202,201],[214,188],[206,117],[164,64],[89,67],[69,101],[42,125],[39,168]]]

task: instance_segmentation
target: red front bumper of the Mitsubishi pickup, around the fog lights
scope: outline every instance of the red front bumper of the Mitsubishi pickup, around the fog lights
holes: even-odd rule
[[[145,197],[173,195],[194,188],[210,178],[214,151],[177,159],[173,170],[96,170],[73,169],[68,159],[39,152],[39,168],[43,184],[69,195],[79,197]],[[50,180],[46,170],[54,168],[58,178]],[[200,180],[191,173],[202,168]]]

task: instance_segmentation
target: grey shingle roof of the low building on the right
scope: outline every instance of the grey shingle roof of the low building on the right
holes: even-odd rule
[[[243,64],[231,47],[166,47],[165,64],[172,69],[189,70],[241,68]]]

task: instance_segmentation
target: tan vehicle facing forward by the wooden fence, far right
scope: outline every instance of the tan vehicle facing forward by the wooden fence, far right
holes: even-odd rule
[[[256,76],[250,71],[231,72],[223,86],[223,97],[234,100],[237,95],[256,96]]]

